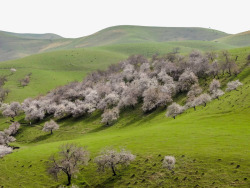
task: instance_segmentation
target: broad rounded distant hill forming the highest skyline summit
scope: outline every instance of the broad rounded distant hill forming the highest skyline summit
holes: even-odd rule
[[[89,47],[121,43],[166,42],[182,40],[214,40],[228,34],[205,28],[191,27],[145,27],[115,26],[101,30],[93,35],[76,39],[69,46]]]

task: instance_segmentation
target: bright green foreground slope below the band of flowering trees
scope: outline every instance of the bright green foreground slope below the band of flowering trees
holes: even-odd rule
[[[235,49],[241,66],[250,48]],[[221,78],[223,89],[228,80],[240,79],[240,91],[226,93],[197,111],[188,110],[176,120],[165,111],[149,115],[140,110],[121,114],[112,127],[100,125],[100,114],[82,119],[60,121],[60,130],[49,136],[41,132],[42,123],[23,126],[17,136],[21,149],[0,160],[0,185],[5,187],[51,187],[54,182],[45,171],[46,160],[65,140],[88,146],[91,157],[106,146],[125,146],[137,155],[136,161],[114,178],[111,172],[99,174],[90,162],[74,183],[92,187],[249,187],[250,185],[250,68],[235,77]],[[22,117],[20,117],[22,118]],[[1,129],[8,126],[1,119]],[[161,155],[161,156],[159,156]],[[175,173],[161,168],[164,155],[177,158]],[[240,165],[239,168],[236,168]],[[247,180],[244,180],[247,178]],[[185,180],[184,180],[185,179]],[[100,186],[99,186],[100,187]]]

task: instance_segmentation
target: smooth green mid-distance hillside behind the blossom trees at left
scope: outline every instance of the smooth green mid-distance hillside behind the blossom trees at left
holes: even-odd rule
[[[45,94],[49,90],[72,81],[80,81],[87,73],[107,68],[126,56],[115,52],[91,49],[37,54],[23,59],[0,63],[0,75],[8,75],[15,67],[17,72],[8,76],[5,87],[11,90],[6,101],[22,101],[27,97]],[[18,80],[32,73],[30,84],[20,87]]]

